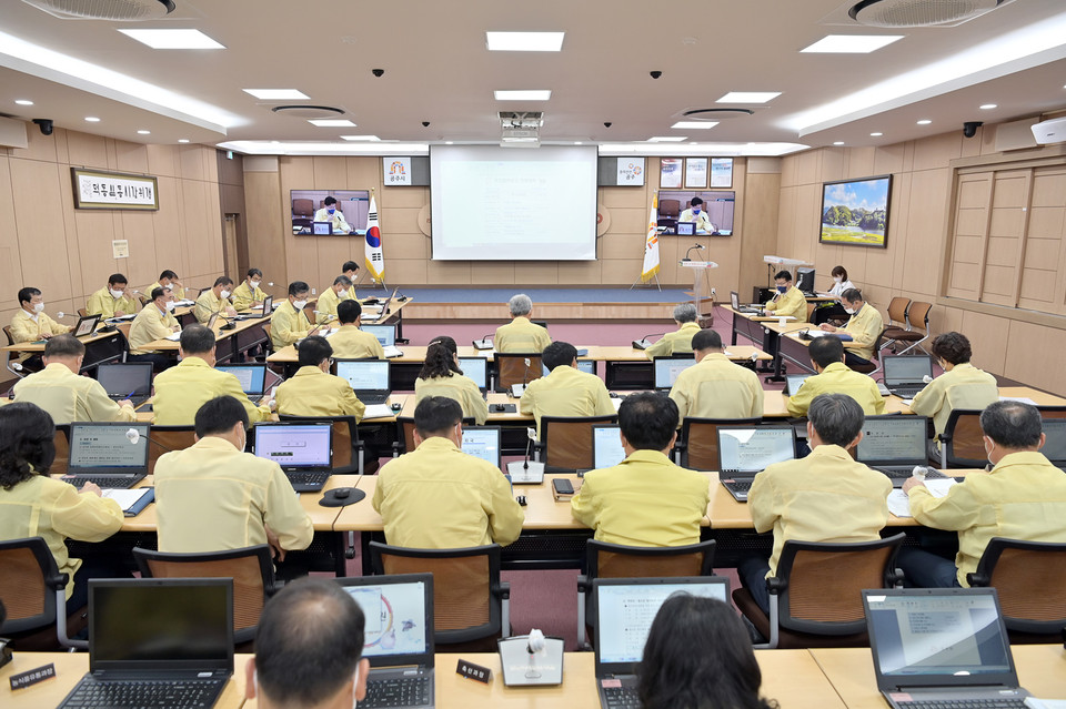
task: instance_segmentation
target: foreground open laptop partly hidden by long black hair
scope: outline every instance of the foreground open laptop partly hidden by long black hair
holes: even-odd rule
[[[717,576],[683,578],[597,578],[592,581],[596,609],[596,689],[603,709],[640,707],[636,666],[663,602],[690,594],[730,602],[730,581]]]

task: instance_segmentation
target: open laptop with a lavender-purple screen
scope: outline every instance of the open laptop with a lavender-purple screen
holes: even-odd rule
[[[322,424],[255,424],[255,457],[281,466],[292,489],[318,493],[333,474],[333,426]]]

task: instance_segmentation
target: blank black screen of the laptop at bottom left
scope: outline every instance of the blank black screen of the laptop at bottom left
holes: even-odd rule
[[[89,581],[89,669],[233,670],[233,580]]]

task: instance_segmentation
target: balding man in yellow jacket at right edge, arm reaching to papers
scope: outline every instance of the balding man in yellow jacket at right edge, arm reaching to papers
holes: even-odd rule
[[[958,533],[954,564],[921,549],[901,548],[896,565],[907,581],[922,588],[969,586],[966,575],[993,537],[1027,541],[1066,541],[1066,475],[1039,450],[1045,436],[1040,412],[1022,402],[995,402],[980,414],[989,473],[971,473],[944,497],[908,478],[915,520]]]

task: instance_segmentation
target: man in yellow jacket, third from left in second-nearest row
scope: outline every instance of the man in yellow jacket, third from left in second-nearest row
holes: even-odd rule
[[[414,408],[414,450],[378,474],[374,509],[389,544],[455,549],[519,538],[525,515],[500,468],[466,455],[459,402],[429,396]]]

